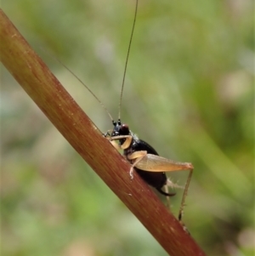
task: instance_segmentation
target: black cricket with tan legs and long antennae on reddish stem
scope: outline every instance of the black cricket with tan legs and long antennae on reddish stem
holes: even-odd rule
[[[139,174],[139,177],[143,179],[144,182],[154,187],[156,191],[158,191],[162,195],[167,196],[167,207],[169,209],[169,196],[174,196],[175,193],[169,193],[168,187],[184,189],[180,208],[178,211],[178,221],[181,223],[181,225],[184,226],[182,219],[184,215],[185,199],[188,194],[190,179],[193,173],[193,165],[190,162],[174,162],[173,160],[159,156],[156,150],[151,145],[149,145],[144,140],[139,139],[138,136],[136,134],[133,134],[133,132],[128,128],[128,125],[122,123],[121,121],[122,94],[125,83],[125,77],[127,73],[128,57],[130,54],[130,48],[133,40],[133,31],[135,27],[135,22],[137,20],[138,5],[139,0],[136,0],[133,26],[130,41],[128,43],[127,58],[122,78],[122,88],[118,107],[119,114],[117,122],[114,121],[114,119],[111,117],[110,112],[107,110],[105,105],[99,100],[99,98],[93,93],[93,91],[90,88],[88,88],[88,86],[84,82],[82,82],[81,79],[79,79],[72,71],[71,73],[75,77],[77,77],[77,79],[80,82],[82,82],[85,88],[88,89],[88,92],[94,96],[95,100],[99,102],[99,104],[105,109],[106,113],[111,118],[113,129],[108,130],[105,134],[103,134],[103,136],[105,137],[105,139],[108,139],[111,142],[111,145],[113,145],[116,148],[116,150],[123,151],[123,156],[126,158],[127,162],[131,164],[129,171],[130,179],[134,179],[134,173]],[[173,181],[167,178],[166,175],[167,172],[176,172],[181,170],[189,171],[189,176],[184,187],[173,183]],[[162,190],[162,188],[164,188],[164,191]],[[184,229],[186,230],[185,226]]]

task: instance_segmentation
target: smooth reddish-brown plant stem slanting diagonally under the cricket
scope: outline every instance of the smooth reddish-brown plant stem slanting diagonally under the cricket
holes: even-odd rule
[[[89,120],[0,9],[1,61],[65,139],[172,256],[205,255]]]

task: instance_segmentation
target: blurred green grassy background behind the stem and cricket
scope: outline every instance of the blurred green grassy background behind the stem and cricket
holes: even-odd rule
[[[105,111],[51,56],[116,118],[134,6],[2,1],[102,131],[111,128]],[[253,8],[252,0],[140,0],[127,67],[122,121],[161,156],[194,164],[184,223],[208,255],[254,252]],[[2,255],[167,255],[1,69]],[[171,177],[184,185],[187,175]]]

